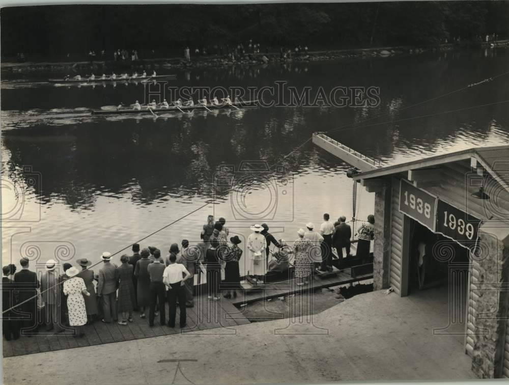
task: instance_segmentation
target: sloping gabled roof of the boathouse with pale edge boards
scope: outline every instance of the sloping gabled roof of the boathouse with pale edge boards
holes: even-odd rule
[[[509,145],[472,147],[469,149],[430,156],[424,159],[393,164],[359,173],[354,180],[374,179],[408,173],[410,170],[433,169],[441,164],[469,160],[473,169],[482,166],[501,186],[509,191]]]

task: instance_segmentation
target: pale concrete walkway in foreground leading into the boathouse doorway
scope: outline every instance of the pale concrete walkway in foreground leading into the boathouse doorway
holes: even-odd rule
[[[298,296],[294,298],[298,306]],[[4,381],[56,385],[474,378],[463,337],[433,335],[433,328],[447,324],[443,288],[406,298],[373,292],[308,319],[9,357],[3,360]]]

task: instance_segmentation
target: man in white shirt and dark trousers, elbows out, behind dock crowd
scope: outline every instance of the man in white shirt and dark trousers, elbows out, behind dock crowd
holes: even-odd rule
[[[184,274],[184,278],[182,278],[182,274]],[[169,256],[169,265],[162,273],[162,282],[168,287],[169,327],[175,327],[177,298],[180,308],[180,328],[186,325],[186,293],[184,285],[185,281],[190,277],[189,271],[187,271],[183,264],[177,263],[177,256],[172,253]]]

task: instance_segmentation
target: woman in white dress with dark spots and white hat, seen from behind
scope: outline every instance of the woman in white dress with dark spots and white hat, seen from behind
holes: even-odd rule
[[[64,294],[67,295],[67,309],[69,314],[69,325],[74,326],[74,337],[83,337],[83,325],[87,323],[87,308],[83,295],[89,296],[85,281],[76,277],[79,270],[71,267],[65,271],[68,280],[64,282]]]

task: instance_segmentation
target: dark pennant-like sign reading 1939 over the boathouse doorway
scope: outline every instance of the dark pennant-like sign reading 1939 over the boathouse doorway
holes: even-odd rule
[[[482,221],[454,206],[438,200],[436,232],[472,250]]]

